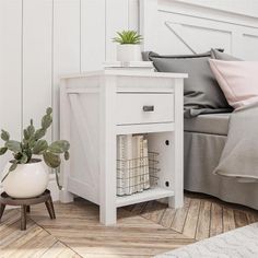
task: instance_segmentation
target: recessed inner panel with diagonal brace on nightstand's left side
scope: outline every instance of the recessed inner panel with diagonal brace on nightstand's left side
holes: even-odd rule
[[[98,203],[99,187],[99,131],[98,122],[98,95],[94,92],[73,94],[70,93],[71,107],[71,174],[68,189],[74,190],[80,183],[84,195],[91,201]],[[94,107],[94,108],[92,108]],[[78,187],[77,187],[78,188]]]

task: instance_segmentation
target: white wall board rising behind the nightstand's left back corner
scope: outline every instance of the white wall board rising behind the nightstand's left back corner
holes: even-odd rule
[[[52,7],[52,138],[59,133],[59,74],[81,71],[81,2],[56,0]]]

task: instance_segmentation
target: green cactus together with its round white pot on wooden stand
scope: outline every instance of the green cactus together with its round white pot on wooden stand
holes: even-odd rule
[[[42,195],[47,188],[49,175],[44,162],[56,171],[61,164],[61,154],[64,155],[64,160],[69,159],[68,141],[59,140],[48,144],[44,139],[52,124],[51,114],[52,109],[48,107],[42,118],[42,127],[37,130],[31,120],[31,125],[23,130],[21,142],[11,140],[9,132],[1,131],[4,145],[0,148],[0,155],[8,151],[13,154],[13,160],[3,169],[1,181],[3,190],[13,198],[33,198]],[[39,156],[43,156],[43,160]],[[56,175],[58,180],[58,174]]]

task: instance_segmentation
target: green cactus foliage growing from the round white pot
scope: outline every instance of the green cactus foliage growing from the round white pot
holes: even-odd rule
[[[0,148],[0,155],[5,154],[11,151],[13,154],[12,165],[9,168],[7,175],[2,178],[2,181],[8,177],[8,175],[17,167],[17,164],[26,164],[33,162],[33,155],[42,155],[44,162],[50,167],[55,168],[58,181],[58,171],[57,168],[61,164],[61,154],[63,154],[64,160],[69,160],[69,149],[70,144],[66,140],[55,141],[48,143],[44,137],[47,133],[47,129],[52,124],[52,109],[48,107],[46,114],[42,118],[42,127],[35,129],[33,125],[33,119],[31,119],[30,125],[23,130],[22,141],[14,141],[10,139],[8,131],[1,130],[1,139],[4,141],[4,145]]]

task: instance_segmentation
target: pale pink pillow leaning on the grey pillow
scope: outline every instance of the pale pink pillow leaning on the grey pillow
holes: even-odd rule
[[[209,59],[228,104],[242,107],[258,102],[258,62]]]

